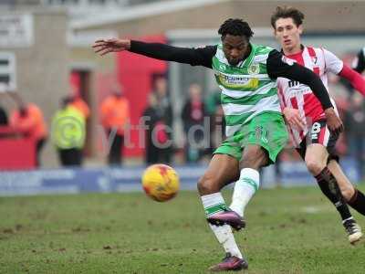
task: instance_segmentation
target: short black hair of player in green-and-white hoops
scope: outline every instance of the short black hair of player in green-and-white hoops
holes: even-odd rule
[[[254,35],[254,32],[244,20],[239,18],[229,18],[219,27],[218,34],[220,34],[221,37],[231,35],[235,37],[246,37],[247,40],[250,40],[250,38]]]

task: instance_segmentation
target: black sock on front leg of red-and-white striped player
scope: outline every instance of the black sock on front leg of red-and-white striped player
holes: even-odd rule
[[[333,174],[329,171],[328,167],[326,166],[320,174],[315,177],[322,193],[328,197],[328,200],[331,201],[339,211],[342,223],[352,219],[349,207],[339,190],[339,184]]]

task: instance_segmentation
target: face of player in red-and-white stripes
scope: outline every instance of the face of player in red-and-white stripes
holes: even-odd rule
[[[302,26],[297,26],[293,18],[279,18],[276,20],[274,34],[284,50],[300,49],[300,35],[302,32]]]

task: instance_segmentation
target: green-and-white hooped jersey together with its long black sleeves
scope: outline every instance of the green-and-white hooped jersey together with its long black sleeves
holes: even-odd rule
[[[250,55],[237,66],[229,65],[221,44],[188,48],[131,40],[130,51],[150,58],[213,68],[222,90],[228,137],[236,136],[235,132],[260,113],[281,115],[276,95],[278,77],[308,85],[324,110],[333,107],[325,86],[313,71],[297,65],[271,47],[251,44]],[[283,121],[283,118],[280,116],[279,120]]]

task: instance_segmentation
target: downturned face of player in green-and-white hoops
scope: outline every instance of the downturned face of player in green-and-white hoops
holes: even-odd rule
[[[222,39],[224,56],[231,66],[236,66],[248,53],[249,45],[246,37],[226,35]]]

